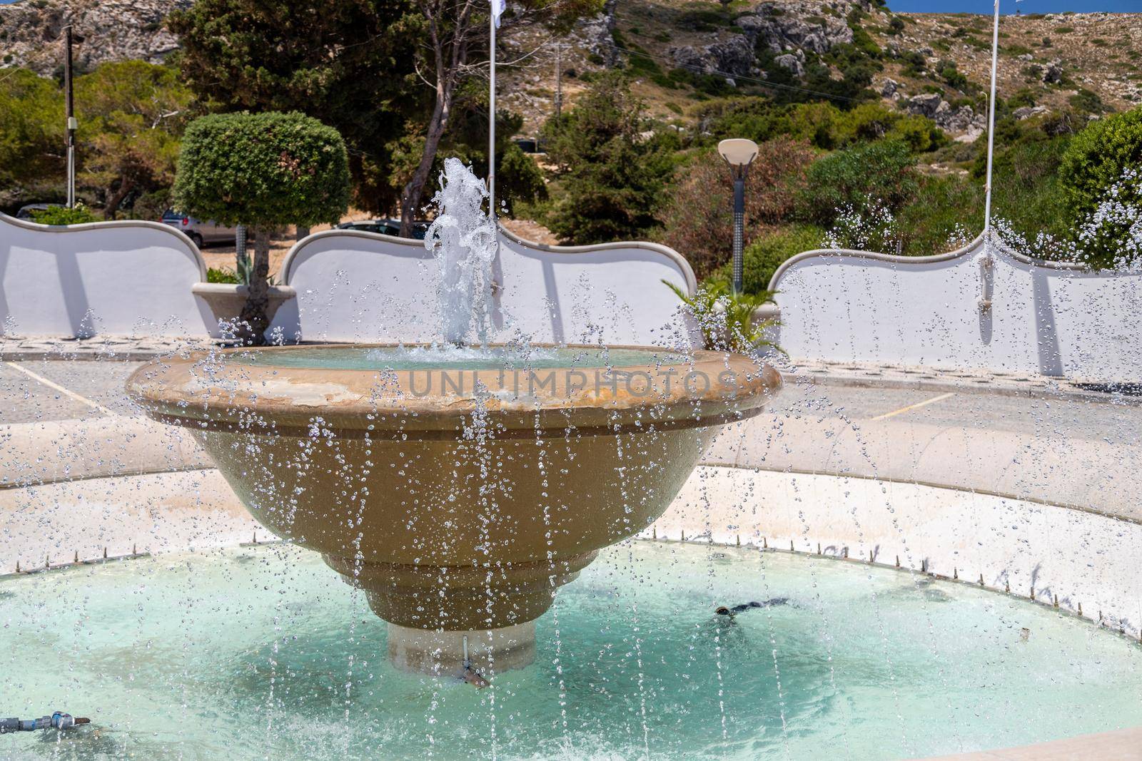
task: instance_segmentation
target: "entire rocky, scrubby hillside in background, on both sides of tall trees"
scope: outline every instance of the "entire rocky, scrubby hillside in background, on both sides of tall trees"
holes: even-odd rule
[[[161,60],[177,46],[162,19],[192,1],[0,6],[0,60],[43,74],[56,71],[56,40],[67,23],[85,38],[77,47],[81,67],[121,58]],[[1000,29],[1000,94],[1019,94],[1023,114],[1076,105],[1119,111],[1142,103],[1142,14],[1005,16]],[[711,95],[788,94],[841,81],[855,49],[874,66],[872,88],[885,100],[931,116],[970,141],[984,126],[990,19],[893,14],[869,0],[737,0],[729,7],[609,0],[603,14],[568,37],[517,29],[505,47],[502,58],[521,63],[502,70],[501,102],[524,115],[525,132],[553,112],[560,68],[565,105],[593,72],[621,66],[636,76],[635,90],[654,115],[685,126],[693,122],[694,104]]]

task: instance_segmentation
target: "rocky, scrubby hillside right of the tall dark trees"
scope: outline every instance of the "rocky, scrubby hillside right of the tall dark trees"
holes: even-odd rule
[[[694,102],[711,94],[809,88],[814,62],[841,80],[844,72],[830,58],[845,46],[876,51],[872,89],[886,102],[933,118],[960,140],[978,137],[986,123],[987,16],[893,14],[863,0],[734,2],[729,10],[715,2],[624,0],[609,10],[593,29],[611,30],[610,41],[562,51],[564,103],[582,90],[585,72],[617,62],[644,74],[635,89],[657,116],[686,123]],[[1004,16],[999,37],[999,92],[1019,94],[1022,114],[1142,103],[1142,13]],[[522,42],[521,52],[534,40]],[[555,42],[548,42],[528,67],[506,75],[501,97],[525,114],[525,129],[553,108],[555,68]],[[679,70],[701,81],[695,87]]]

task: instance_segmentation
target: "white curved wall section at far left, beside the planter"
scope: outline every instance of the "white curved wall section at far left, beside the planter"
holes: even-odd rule
[[[49,227],[0,213],[0,335],[194,335],[206,280],[185,235],[146,221]]]

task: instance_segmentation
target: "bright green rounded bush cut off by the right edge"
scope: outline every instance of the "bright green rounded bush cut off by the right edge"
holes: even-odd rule
[[[1073,212],[1095,209],[1124,170],[1142,167],[1142,106],[1091,122],[1062,155],[1059,179]]]

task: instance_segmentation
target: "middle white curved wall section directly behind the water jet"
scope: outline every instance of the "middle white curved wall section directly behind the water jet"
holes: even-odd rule
[[[677,296],[695,288],[677,252],[653,243],[545,246],[500,232],[496,339],[676,342]],[[271,332],[307,341],[418,341],[437,334],[436,265],[421,241],[353,230],[300,241],[282,265],[297,299]]]

